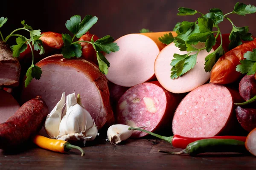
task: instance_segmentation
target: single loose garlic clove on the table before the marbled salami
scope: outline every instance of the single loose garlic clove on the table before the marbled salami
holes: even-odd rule
[[[119,144],[121,141],[124,141],[129,137],[131,137],[132,132],[134,130],[128,130],[129,127],[131,126],[122,125],[122,124],[116,124],[116,125],[110,126],[107,132],[109,142],[111,144]],[[142,128],[142,127],[138,127],[138,128]]]

